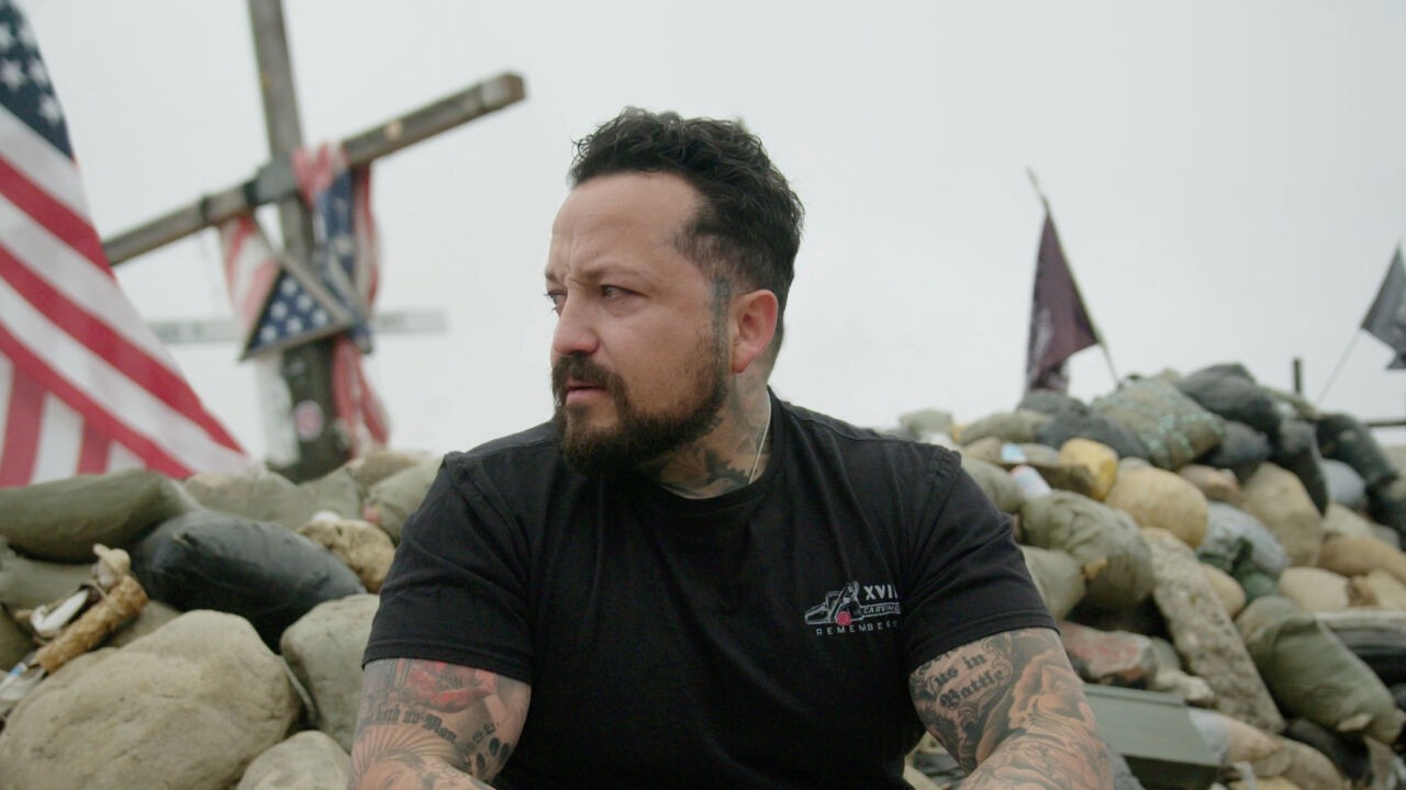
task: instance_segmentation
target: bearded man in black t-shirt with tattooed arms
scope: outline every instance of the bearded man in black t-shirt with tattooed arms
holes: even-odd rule
[[[370,644],[353,787],[1111,783],[955,454],[776,399],[801,205],[738,124],[627,110],[553,225],[550,425],[450,454]]]

